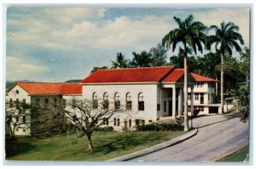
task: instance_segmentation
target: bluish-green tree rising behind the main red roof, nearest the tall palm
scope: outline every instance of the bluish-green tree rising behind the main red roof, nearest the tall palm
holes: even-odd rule
[[[160,43],[156,48],[150,48],[149,54],[152,56],[152,66],[166,65],[167,50]]]

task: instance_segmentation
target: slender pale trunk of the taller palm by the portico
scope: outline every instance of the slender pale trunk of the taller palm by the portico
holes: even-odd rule
[[[189,130],[188,124],[188,69],[187,54],[184,57],[184,131]]]

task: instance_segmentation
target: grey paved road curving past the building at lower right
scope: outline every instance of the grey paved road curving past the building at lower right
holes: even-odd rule
[[[217,161],[248,144],[248,122],[239,121],[237,114],[202,116],[193,126],[198,127],[195,137],[130,161]]]

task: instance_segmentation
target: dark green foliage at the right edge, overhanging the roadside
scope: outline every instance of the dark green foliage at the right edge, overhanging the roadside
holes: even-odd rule
[[[249,89],[248,87],[241,87],[236,93],[238,99],[238,110],[241,115],[241,121],[246,122],[249,119]]]

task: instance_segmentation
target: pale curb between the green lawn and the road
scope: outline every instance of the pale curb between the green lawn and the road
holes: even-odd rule
[[[109,159],[108,161],[128,161],[134,158],[137,158],[139,156],[143,156],[143,155],[148,155],[150,153],[153,153],[154,151],[158,151],[160,149],[165,149],[166,147],[170,147],[174,144],[178,144],[180,142],[183,142],[186,139],[192,138],[193,136],[195,136],[197,134],[198,130],[197,128],[191,132],[185,133],[181,136],[178,136],[177,138],[172,138],[169,141],[166,141],[164,143],[161,144],[156,144],[152,147],[146,148],[146,149],[142,149],[139,150],[137,152],[128,154],[128,155],[122,155],[113,159]]]

